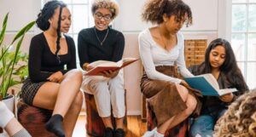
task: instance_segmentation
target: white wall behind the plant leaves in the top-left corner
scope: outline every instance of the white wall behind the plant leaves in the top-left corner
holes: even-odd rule
[[[7,35],[3,43],[8,44],[12,41],[15,34],[29,22],[37,18],[41,9],[40,0],[0,0],[0,23],[2,29],[3,18],[9,13]],[[0,29],[0,30],[1,30]],[[31,38],[38,29],[34,26],[24,38],[21,49],[27,52]]]

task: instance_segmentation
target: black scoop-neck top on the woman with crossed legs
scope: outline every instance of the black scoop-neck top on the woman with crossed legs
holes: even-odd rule
[[[43,32],[32,37],[29,49],[28,72],[33,83],[48,81],[47,78],[56,71],[61,71],[62,74],[65,74],[67,71],[77,67],[73,38],[66,35],[65,37],[67,54],[59,55],[61,63],[55,53],[50,51]],[[64,68],[65,65],[67,65],[67,69]]]

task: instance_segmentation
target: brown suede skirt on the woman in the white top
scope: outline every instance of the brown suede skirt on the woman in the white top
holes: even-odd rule
[[[155,69],[167,76],[182,79],[177,72],[176,66],[156,66]],[[141,89],[143,95],[147,98],[149,107],[154,111],[157,126],[187,109],[185,102],[177,91],[175,83],[149,79],[144,72]],[[189,91],[189,94],[195,96],[191,91]],[[200,108],[197,107],[196,110],[200,111]]]

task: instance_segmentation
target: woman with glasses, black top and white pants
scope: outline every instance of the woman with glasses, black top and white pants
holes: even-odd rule
[[[84,71],[94,68],[90,63],[97,60],[119,61],[122,59],[125,38],[113,30],[109,23],[118,15],[118,4],[113,0],[96,0],[91,11],[95,26],[79,32],[79,60]],[[102,77],[102,78],[97,78]],[[99,116],[105,125],[105,137],[124,137],[125,89],[123,71],[104,71],[102,76],[84,77],[84,92],[93,94]],[[112,109],[111,109],[112,108]],[[115,117],[113,130],[111,111]]]

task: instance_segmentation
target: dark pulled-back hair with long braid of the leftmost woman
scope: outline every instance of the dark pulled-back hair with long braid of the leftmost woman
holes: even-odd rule
[[[56,41],[56,51],[55,55],[56,58],[60,61],[60,57],[58,56],[58,53],[61,49],[60,46],[60,40],[61,40],[61,14],[62,14],[62,9],[64,7],[67,7],[66,3],[63,3],[61,1],[49,1],[48,3],[44,4],[44,8],[41,10],[41,12],[38,14],[38,19],[36,20],[37,26],[42,30],[46,31],[49,29],[49,19],[55,14],[55,9],[60,7],[60,14],[59,14],[59,19],[58,19],[58,27],[57,27],[57,41]]]

